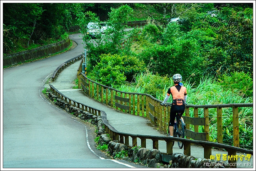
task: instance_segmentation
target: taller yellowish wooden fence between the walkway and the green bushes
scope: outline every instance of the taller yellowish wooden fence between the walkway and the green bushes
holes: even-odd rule
[[[82,63],[82,62],[81,62]],[[111,87],[99,84],[87,78],[81,73],[81,64],[78,69],[78,82],[79,89],[86,92],[87,95],[95,98],[107,106],[115,108],[120,112],[129,113],[132,115],[142,116],[149,119],[159,131],[167,134],[170,108],[162,107],[159,99],[154,98],[149,94],[122,92]],[[209,134],[209,108],[217,110],[217,142],[223,143],[223,123],[222,123],[222,108],[232,108],[233,112],[233,139],[234,146],[239,147],[239,119],[238,108],[240,107],[253,107],[253,103],[238,103],[238,104],[219,104],[219,105],[186,105],[185,116],[182,116],[186,123],[185,135],[187,139],[194,139],[199,141],[210,141]],[[190,108],[193,108],[193,117],[190,117]],[[204,116],[198,118],[198,109],[204,110]],[[252,116],[252,114],[251,114]],[[204,132],[199,132],[198,126],[204,127]],[[190,130],[194,127],[194,131]],[[251,125],[252,128],[252,125]]]

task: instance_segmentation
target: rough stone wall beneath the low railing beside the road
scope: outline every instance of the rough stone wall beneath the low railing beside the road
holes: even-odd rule
[[[64,109],[68,113],[72,113],[82,120],[90,120],[91,124],[97,126],[97,137],[100,136],[98,144],[108,144],[107,152],[111,156],[116,156],[118,152],[123,150],[128,151],[128,156],[124,157],[123,160],[139,163],[153,168],[224,168],[223,161],[213,161],[210,159],[199,158],[195,159],[193,156],[187,156],[181,153],[174,153],[171,156],[169,164],[162,164],[162,154],[157,149],[146,149],[137,147],[127,147],[123,143],[119,143],[117,140],[112,141],[107,136],[105,129],[103,128],[103,122],[101,116],[93,115],[89,112],[81,110],[80,108],[74,107],[73,105],[65,102],[54,95],[50,89],[47,89],[46,95],[52,100],[55,105]]]

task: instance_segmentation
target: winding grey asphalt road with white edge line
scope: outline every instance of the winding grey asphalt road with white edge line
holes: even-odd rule
[[[96,149],[94,126],[73,118],[42,94],[54,70],[84,52],[80,35],[70,35],[78,44],[73,50],[3,69],[1,170],[145,167],[110,160]]]

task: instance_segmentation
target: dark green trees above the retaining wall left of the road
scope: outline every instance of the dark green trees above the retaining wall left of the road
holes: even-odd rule
[[[80,13],[95,12],[107,19],[116,3],[3,3],[3,53],[10,54],[62,40],[78,32]],[[84,23],[86,26],[87,23]]]

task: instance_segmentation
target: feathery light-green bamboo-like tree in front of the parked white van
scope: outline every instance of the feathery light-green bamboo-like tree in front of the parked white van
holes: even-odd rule
[[[104,35],[98,35],[96,37],[97,39],[95,39],[96,44],[93,43],[90,36],[86,35],[86,25],[90,21],[100,24],[99,18],[91,11],[87,11],[86,13],[77,13],[85,48],[89,53],[89,69],[92,70],[97,63],[100,62],[101,54],[119,54],[121,52],[121,42],[127,35],[126,32],[124,32],[124,28],[126,28],[126,22],[129,21],[132,13],[133,10],[128,5],[123,5],[116,9],[111,8],[111,12],[108,13],[109,20],[106,21],[111,29],[108,29]]]

